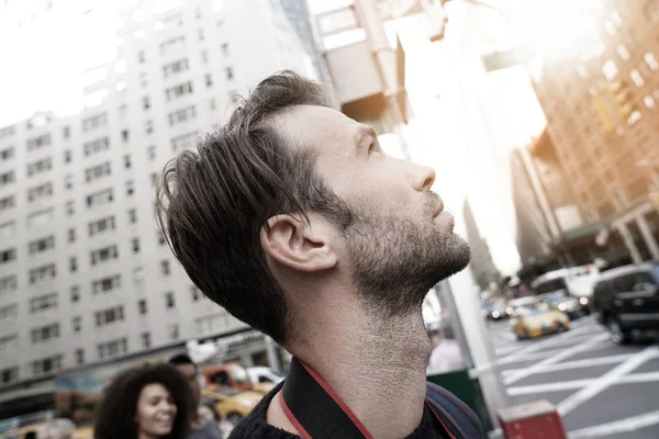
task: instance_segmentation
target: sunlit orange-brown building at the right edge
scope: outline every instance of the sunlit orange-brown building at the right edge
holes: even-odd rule
[[[534,86],[591,235],[619,235],[633,261],[659,259],[659,4],[600,3],[595,46],[546,63]]]

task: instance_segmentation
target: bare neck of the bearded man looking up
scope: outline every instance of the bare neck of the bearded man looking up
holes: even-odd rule
[[[387,322],[365,312],[319,316],[291,352],[337,393],[376,438],[403,438],[421,423],[429,340],[421,311]],[[291,430],[278,398],[268,421]],[[291,430],[292,432],[297,432]]]

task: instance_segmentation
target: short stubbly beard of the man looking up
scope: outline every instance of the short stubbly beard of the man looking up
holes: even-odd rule
[[[469,263],[469,246],[453,227],[439,229],[431,200],[424,219],[357,212],[351,216],[344,233],[353,275],[366,307],[382,318],[420,311],[437,282]]]

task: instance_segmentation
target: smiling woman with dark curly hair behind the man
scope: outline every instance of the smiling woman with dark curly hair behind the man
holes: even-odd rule
[[[169,364],[120,372],[103,391],[94,439],[186,439],[192,390]]]

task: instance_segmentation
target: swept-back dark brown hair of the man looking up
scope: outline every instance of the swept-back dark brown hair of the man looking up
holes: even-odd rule
[[[236,318],[283,342],[290,311],[260,246],[267,219],[349,214],[314,170],[309,148],[290,145],[272,116],[293,105],[333,106],[330,90],[282,71],[263,80],[228,122],[170,160],[156,194],[157,218],[192,282]]]

